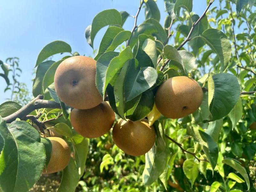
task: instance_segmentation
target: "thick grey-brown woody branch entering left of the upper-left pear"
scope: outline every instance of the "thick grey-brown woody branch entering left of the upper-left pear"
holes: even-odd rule
[[[36,109],[61,108],[59,103],[56,103],[55,101],[43,100],[43,98],[43,95],[38,95],[35,99],[31,100],[27,105],[25,105],[12,115],[4,117],[3,120],[6,121],[6,123],[11,123],[12,121],[15,121],[16,118],[26,120],[27,115]]]

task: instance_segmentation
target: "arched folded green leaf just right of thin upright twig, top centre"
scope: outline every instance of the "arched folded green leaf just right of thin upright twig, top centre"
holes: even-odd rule
[[[129,45],[131,48],[133,48],[134,45],[137,43],[138,36],[140,34],[152,35],[156,33],[158,33],[158,30],[155,25],[151,23],[142,23],[138,26],[137,29],[135,29],[134,33],[132,34]]]

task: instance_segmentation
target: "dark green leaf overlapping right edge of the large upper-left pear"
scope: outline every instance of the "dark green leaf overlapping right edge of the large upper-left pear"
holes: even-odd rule
[[[109,63],[118,54],[118,52],[113,51],[105,52],[96,62],[96,86],[102,97],[105,96],[105,90],[108,85],[105,82]]]

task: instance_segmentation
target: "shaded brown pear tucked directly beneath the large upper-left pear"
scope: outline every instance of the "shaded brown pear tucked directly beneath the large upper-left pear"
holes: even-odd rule
[[[107,102],[91,109],[73,109],[70,121],[76,132],[86,138],[96,138],[107,133],[115,122],[115,113]]]

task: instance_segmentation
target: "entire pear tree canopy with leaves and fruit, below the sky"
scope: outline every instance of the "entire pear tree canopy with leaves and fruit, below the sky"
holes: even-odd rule
[[[207,0],[198,15],[201,1],[102,10],[81,42],[94,57],[59,40],[38,50],[34,98],[0,105],[0,191],[51,174],[59,192],[256,191],[256,1]],[[18,94],[8,60],[3,91]]]

